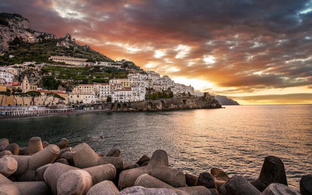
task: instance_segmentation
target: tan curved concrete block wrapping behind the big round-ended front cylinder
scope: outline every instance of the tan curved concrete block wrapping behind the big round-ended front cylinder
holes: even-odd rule
[[[53,194],[56,195],[58,193],[57,185],[59,177],[69,170],[78,170],[78,168],[56,162],[45,170],[43,178],[52,190]]]

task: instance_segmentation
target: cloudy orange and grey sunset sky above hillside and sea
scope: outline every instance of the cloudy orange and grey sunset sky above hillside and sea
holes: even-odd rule
[[[312,0],[0,0],[0,12],[198,94],[312,103]]]

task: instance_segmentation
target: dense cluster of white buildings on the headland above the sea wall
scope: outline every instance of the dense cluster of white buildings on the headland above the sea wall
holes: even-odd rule
[[[106,102],[108,97],[112,102],[144,101],[146,89],[154,92],[162,92],[171,89],[174,95],[194,95],[194,88],[175,83],[168,76],[160,77],[154,71],[146,74],[128,74],[128,78],[117,78],[109,80],[109,83],[80,84],[75,86],[69,93],[69,102],[77,103],[99,103]]]

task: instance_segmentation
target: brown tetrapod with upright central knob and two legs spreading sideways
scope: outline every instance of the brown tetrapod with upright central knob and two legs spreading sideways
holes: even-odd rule
[[[175,188],[185,186],[185,176],[182,171],[168,167],[168,155],[163,150],[156,150],[147,166],[122,171],[119,175],[120,190],[134,186],[137,177],[142,174],[153,176]]]

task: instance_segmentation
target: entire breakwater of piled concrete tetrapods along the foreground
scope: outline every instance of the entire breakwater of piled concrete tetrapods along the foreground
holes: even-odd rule
[[[0,195],[312,195],[312,175],[300,180],[300,193],[287,186],[282,160],[264,159],[260,175],[249,182],[223,170],[203,170],[199,176],[170,166],[168,154],[126,164],[120,150],[96,153],[88,144],[68,147],[32,137],[27,148],[0,139]]]

